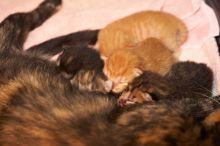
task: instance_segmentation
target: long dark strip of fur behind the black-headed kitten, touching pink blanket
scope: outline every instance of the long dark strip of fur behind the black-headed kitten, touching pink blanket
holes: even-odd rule
[[[35,45],[27,49],[27,53],[43,57],[50,58],[54,55],[61,53],[65,48],[72,46],[85,46],[94,45],[97,41],[99,30],[84,30],[74,32],[68,35],[60,36]]]

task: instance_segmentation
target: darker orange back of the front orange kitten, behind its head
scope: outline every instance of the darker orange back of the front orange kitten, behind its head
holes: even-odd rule
[[[148,38],[135,48],[143,58],[144,70],[165,75],[176,62],[173,53],[156,38]]]

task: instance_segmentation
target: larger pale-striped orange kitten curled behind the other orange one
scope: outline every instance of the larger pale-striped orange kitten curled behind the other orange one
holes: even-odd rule
[[[178,49],[187,38],[185,24],[176,16],[160,11],[138,12],[116,20],[98,36],[99,49],[108,57],[113,50],[133,47],[149,37],[160,39],[170,50]]]

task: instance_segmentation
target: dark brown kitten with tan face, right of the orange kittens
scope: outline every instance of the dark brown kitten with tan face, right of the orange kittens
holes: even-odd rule
[[[180,62],[165,77],[144,72],[122,94],[119,104],[170,101],[187,105],[184,110],[200,121],[220,108],[220,100],[212,98],[212,83],[213,73],[205,64]]]

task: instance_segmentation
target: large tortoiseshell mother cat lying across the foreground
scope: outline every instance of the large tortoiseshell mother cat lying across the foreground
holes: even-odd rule
[[[71,86],[55,64],[23,53],[27,33],[60,4],[45,0],[35,10],[0,23],[0,145],[219,144],[218,131],[194,121],[183,110],[185,105],[158,102],[119,108],[114,98]]]

